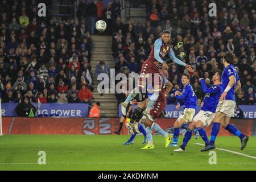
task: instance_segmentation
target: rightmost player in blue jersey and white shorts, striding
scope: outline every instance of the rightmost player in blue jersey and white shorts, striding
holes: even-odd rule
[[[235,92],[241,88],[241,82],[237,71],[234,68],[236,59],[232,53],[226,53],[223,57],[224,71],[222,72],[221,97],[218,102],[216,114],[213,119],[212,133],[210,135],[209,144],[201,151],[208,151],[215,148],[215,140],[220,131],[220,125],[230,133],[236,135],[241,140],[241,150],[246,147],[249,137],[242,134],[234,125],[230,125],[230,118],[234,115],[236,107]]]

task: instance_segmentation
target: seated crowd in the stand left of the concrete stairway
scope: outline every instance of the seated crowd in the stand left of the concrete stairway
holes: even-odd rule
[[[44,1],[50,9],[52,1]],[[88,22],[47,14],[38,1],[1,1],[0,98],[2,102],[91,104],[93,46]],[[49,11],[47,11],[49,13]]]

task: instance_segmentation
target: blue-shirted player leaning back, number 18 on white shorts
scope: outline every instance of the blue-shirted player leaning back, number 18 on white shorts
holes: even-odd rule
[[[192,132],[195,128],[199,132],[201,138],[204,140],[205,146],[207,146],[209,143],[207,134],[205,133],[203,127],[209,126],[213,121],[218,100],[221,96],[221,73],[216,72],[213,75],[213,85],[210,88],[207,88],[204,78],[200,78],[199,81],[201,82],[202,90],[205,93],[203,107],[201,107],[199,113],[196,114],[193,121],[189,124],[188,130],[183,138],[183,144],[180,146],[180,148],[174,150],[174,152],[185,151],[185,147],[187,146],[188,141],[191,139]]]

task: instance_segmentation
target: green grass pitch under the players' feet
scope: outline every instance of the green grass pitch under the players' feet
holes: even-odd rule
[[[3,135],[0,137],[0,170],[255,170],[256,159],[214,150],[217,164],[209,164],[209,152],[200,152],[201,138],[193,137],[187,151],[172,152],[164,138],[154,136],[154,150],[140,150],[143,137],[123,146],[126,135]],[[179,138],[179,144],[183,137]],[[240,150],[237,137],[218,137],[216,147],[256,156],[256,137]],[[38,164],[38,152],[46,152],[46,164]]]

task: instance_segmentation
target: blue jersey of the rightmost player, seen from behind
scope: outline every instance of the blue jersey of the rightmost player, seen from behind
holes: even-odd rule
[[[229,92],[226,94],[226,100],[231,100],[231,101],[234,101],[236,102],[236,98],[235,98],[235,88],[236,88],[236,85],[237,85],[237,81],[240,80],[238,74],[237,74],[237,71],[236,71],[236,68],[234,68],[234,65],[232,64],[229,64],[225,69],[224,71],[222,72],[222,77],[221,77],[221,93],[224,92],[226,86],[228,86],[229,84],[229,77],[230,76],[234,76],[235,77],[235,83],[234,85],[232,86],[232,88],[229,90]]]

